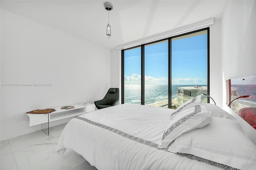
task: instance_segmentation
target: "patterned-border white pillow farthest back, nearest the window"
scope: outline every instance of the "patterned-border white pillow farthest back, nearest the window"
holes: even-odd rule
[[[176,117],[183,110],[194,107],[195,105],[199,105],[200,103],[202,103],[201,97],[202,96],[199,95],[199,96],[196,96],[196,97],[186,101],[185,103],[182,103],[182,105],[180,105],[180,107],[178,107],[176,109],[176,111],[174,113],[172,113],[170,119],[174,119],[174,117]]]

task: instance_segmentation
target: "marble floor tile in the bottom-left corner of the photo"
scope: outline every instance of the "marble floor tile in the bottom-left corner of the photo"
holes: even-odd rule
[[[17,164],[12,153],[1,156],[0,164],[1,170],[18,170]]]

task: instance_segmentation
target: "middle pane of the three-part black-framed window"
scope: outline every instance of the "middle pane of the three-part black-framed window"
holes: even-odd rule
[[[144,104],[168,107],[168,40],[144,49]]]

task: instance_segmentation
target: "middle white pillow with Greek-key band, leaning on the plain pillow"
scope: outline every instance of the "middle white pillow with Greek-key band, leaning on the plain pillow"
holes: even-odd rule
[[[196,105],[188,108],[179,113],[164,130],[164,135],[159,148],[165,148],[169,146],[173,140],[180,135],[194,130],[196,128],[202,128],[209,124],[212,120],[210,111],[204,106]]]

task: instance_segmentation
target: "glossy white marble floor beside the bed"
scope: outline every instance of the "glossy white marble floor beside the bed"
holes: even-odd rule
[[[59,156],[56,146],[66,124],[1,141],[1,170],[97,170],[81,155],[66,150]]]

